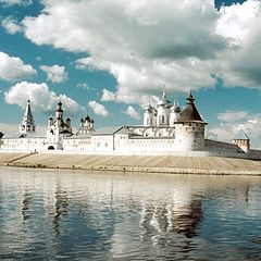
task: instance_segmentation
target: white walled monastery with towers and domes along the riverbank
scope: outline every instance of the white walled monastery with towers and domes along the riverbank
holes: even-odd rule
[[[63,150],[73,153],[137,154],[137,156],[221,156],[261,159],[261,151],[250,149],[246,136],[232,144],[204,137],[207,123],[202,120],[190,94],[184,110],[162,98],[156,107],[148,104],[144,112],[144,125],[95,129],[88,115],[80,120],[73,133],[71,120],[63,119],[59,102],[55,119],[50,117],[46,135],[36,135],[36,125],[27,102],[24,119],[16,137],[4,135],[1,150],[47,151]]]

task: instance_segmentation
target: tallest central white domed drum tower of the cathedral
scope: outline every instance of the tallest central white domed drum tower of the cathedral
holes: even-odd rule
[[[164,90],[161,99],[158,102],[158,114],[157,114],[158,126],[170,125],[170,112],[171,112],[171,102],[166,99],[166,92]]]

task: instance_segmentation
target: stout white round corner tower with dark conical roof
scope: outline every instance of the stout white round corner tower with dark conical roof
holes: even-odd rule
[[[192,94],[187,98],[186,108],[181,117],[175,122],[175,146],[179,151],[203,150],[204,148],[204,126],[195,103]]]

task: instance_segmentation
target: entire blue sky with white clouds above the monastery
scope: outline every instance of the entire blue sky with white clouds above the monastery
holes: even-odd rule
[[[261,2],[0,0],[0,130],[17,132],[26,100],[44,129],[61,99],[75,127],[141,124],[165,86],[191,89],[208,137],[244,129],[261,147]]]

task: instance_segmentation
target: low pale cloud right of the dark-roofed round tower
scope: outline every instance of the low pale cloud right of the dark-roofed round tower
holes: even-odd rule
[[[253,147],[261,147],[261,114],[251,114],[248,111],[225,111],[217,114],[220,123],[208,130],[209,138],[231,141],[234,138],[244,138],[246,133]]]

